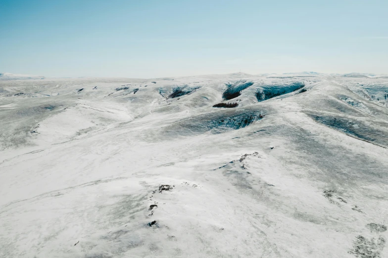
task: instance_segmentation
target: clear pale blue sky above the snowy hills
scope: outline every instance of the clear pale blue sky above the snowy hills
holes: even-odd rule
[[[0,0],[0,72],[388,74],[387,0]]]

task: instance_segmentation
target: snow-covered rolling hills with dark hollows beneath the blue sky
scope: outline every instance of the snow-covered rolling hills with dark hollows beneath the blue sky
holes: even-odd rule
[[[313,72],[2,81],[0,257],[386,258],[387,94]]]

